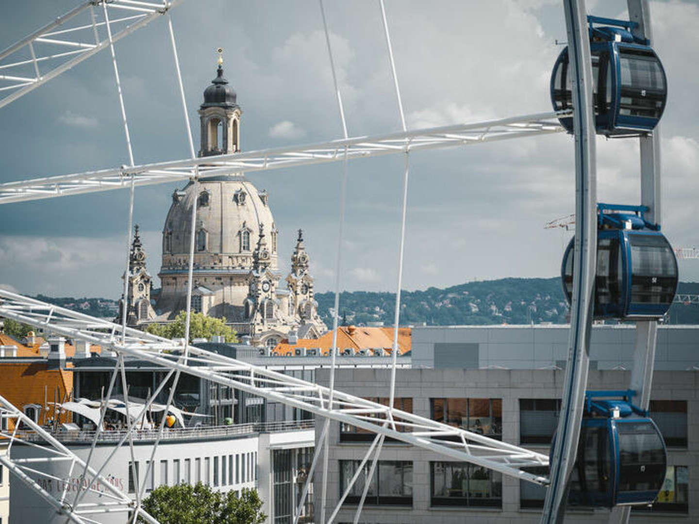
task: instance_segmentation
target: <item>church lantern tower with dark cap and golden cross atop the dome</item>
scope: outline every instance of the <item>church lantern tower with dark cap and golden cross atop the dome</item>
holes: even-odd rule
[[[199,157],[240,151],[240,106],[236,92],[223,76],[223,58],[219,49],[216,78],[204,91],[204,103],[199,106],[201,120],[201,149]]]

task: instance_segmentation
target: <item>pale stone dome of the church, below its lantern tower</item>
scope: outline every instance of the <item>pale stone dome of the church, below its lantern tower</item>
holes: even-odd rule
[[[266,191],[243,175],[226,175],[200,180],[196,194],[192,183],[173,194],[163,231],[163,270],[187,267],[195,203],[195,270],[250,270],[260,226],[271,240],[272,267],[277,268],[277,231]]]

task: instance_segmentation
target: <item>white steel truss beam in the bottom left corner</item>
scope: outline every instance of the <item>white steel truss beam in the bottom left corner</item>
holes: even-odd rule
[[[108,479],[98,472],[95,472],[92,467],[89,467],[89,465],[75,455],[73,451],[66,448],[66,446],[55,439],[53,435],[44,430],[40,425],[22,413],[2,396],[0,396],[0,418],[12,419],[15,421],[15,428],[13,431],[0,430],[0,442],[9,442],[8,453],[0,455],[0,464],[7,467],[8,471],[12,472],[17,479],[22,481],[29,490],[43,498],[43,500],[54,507],[59,514],[66,516],[69,521],[78,524],[96,522],[86,515],[102,513],[108,510],[109,513],[131,513],[132,511],[138,511],[138,514],[145,518],[146,521],[157,523],[145,510],[137,507],[136,504],[131,501],[129,495],[122,493],[122,491],[113,486]],[[44,439],[45,445],[36,444],[36,441],[24,442],[25,445],[40,448],[43,456],[25,459],[11,458],[12,446],[15,445],[16,442],[22,442],[22,438],[18,436],[21,435],[21,433],[17,433],[17,428],[19,428],[20,424],[23,426],[22,432],[29,430]],[[101,481],[101,485],[106,488],[106,492],[101,492],[94,488],[89,488],[89,492],[98,494],[106,500],[99,504],[95,504],[94,502],[73,504],[71,501],[66,500],[66,495],[69,493],[68,490],[57,489],[55,494],[45,490],[39,483],[40,480],[49,479],[52,481],[63,481],[64,479],[59,479],[52,474],[41,471],[41,465],[61,461],[69,463],[69,472],[76,471],[76,467],[84,470],[85,474],[82,476],[84,482],[92,485],[96,480]]]

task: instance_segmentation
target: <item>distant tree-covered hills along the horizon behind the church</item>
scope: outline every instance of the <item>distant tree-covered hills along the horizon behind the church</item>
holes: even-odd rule
[[[677,292],[699,295],[699,282],[680,282]],[[93,316],[114,318],[117,314],[116,301],[106,298],[51,298],[43,295],[35,298]],[[315,300],[318,302],[319,315],[326,326],[331,327],[334,293],[331,291],[315,293]],[[395,301],[395,293],[343,291],[340,293],[340,319],[356,325],[384,323],[385,326],[391,326],[394,321]],[[563,297],[559,277],[503,278],[467,282],[445,289],[431,287],[424,291],[401,292],[401,325],[403,326],[544,322],[568,322],[568,303]],[[670,307],[665,322],[697,324],[699,323],[699,305],[674,303]],[[196,320],[196,326],[203,323],[201,319]],[[157,334],[168,338],[177,336],[173,331],[174,328],[167,333],[164,331],[161,333],[157,328],[153,329]],[[170,333],[171,331],[173,333]],[[226,336],[228,340],[235,337],[235,333],[219,334]]]

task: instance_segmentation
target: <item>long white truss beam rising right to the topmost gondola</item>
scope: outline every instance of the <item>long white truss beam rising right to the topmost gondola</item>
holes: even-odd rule
[[[277,147],[268,150],[148,163],[133,167],[122,166],[72,175],[5,182],[0,184],[0,204],[122,189],[131,185],[131,175],[134,176],[136,186],[147,186],[188,180],[192,177],[195,168],[199,169],[200,177],[229,175],[247,171],[343,161],[345,154],[348,160],[352,160],[383,154],[560,133],[563,128],[558,122],[558,117],[570,114],[570,111],[546,112],[475,124],[456,124],[401,131],[381,136],[344,138],[312,145]]]

